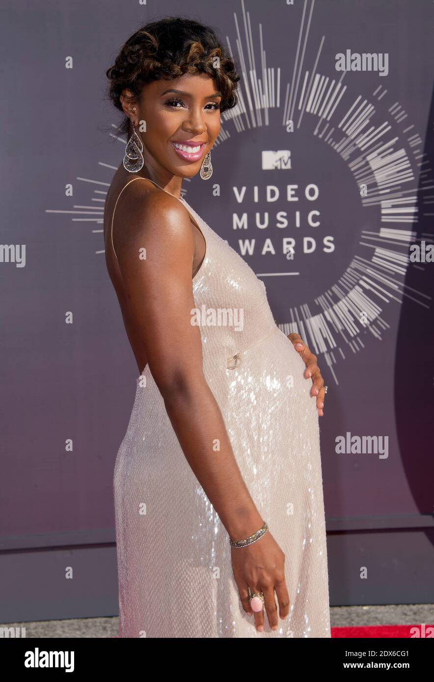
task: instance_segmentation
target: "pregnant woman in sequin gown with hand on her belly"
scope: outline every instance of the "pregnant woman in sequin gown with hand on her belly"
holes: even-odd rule
[[[106,74],[129,140],[106,264],[140,372],[115,462],[119,634],[330,637],[316,357],[180,197],[212,172],[233,61],[212,29],[164,18]]]

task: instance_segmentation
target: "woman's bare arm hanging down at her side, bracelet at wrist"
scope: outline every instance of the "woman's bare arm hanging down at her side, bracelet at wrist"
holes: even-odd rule
[[[203,374],[200,329],[190,323],[191,310],[196,307],[192,294],[196,228],[186,208],[170,194],[148,194],[142,186],[128,196],[128,201],[119,200],[117,224],[122,225],[122,231],[113,239],[116,237],[130,321],[141,339],[149,370],[188,464],[229,536],[243,539],[259,530],[263,519],[246,488],[222,414]],[[139,257],[143,248],[145,260]],[[213,449],[216,439],[220,442],[218,451]],[[259,545],[263,546],[261,550]],[[265,548],[268,559],[263,556]],[[244,572],[248,557],[255,564],[256,553],[261,553],[261,561],[267,564],[263,572],[271,572],[272,579],[278,572],[276,554],[281,550],[270,531],[252,546],[232,552],[240,572]],[[279,569],[283,570],[283,561],[281,564]],[[236,575],[235,579],[238,584]],[[245,594],[242,601],[250,611]],[[285,617],[282,608],[280,611]]]

